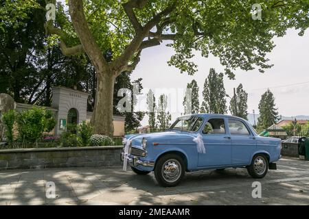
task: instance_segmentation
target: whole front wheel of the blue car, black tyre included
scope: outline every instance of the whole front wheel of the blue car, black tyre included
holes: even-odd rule
[[[185,164],[179,155],[163,155],[155,166],[155,177],[164,187],[176,186],[185,175]]]

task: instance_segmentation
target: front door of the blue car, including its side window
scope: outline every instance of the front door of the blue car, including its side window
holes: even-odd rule
[[[198,153],[198,167],[231,164],[231,138],[227,133],[227,120],[223,117],[209,118],[201,134],[206,153]]]

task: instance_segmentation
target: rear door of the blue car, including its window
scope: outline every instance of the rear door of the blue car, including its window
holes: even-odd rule
[[[255,136],[247,125],[236,118],[229,118],[231,135],[231,164],[250,164],[251,155],[256,148]]]

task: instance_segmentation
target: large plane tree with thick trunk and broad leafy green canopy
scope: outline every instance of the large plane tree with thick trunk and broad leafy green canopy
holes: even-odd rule
[[[50,3],[53,1],[47,1]],[[115,78],[135,69],[141,51],[169,40],[175,54],[168,63],[181,73],[196,72],[194,51],[204,57],[219,57],[225,73],[233,70],[261,72],[272,65],[266,53],[272,38],[295,27],[304,34],[308,27],[308,1],[261,0],[262,21],[254,20],[255,1],[226,0],[69,0],[69,23],[46,25],[47,34],[60,36],[65,55],[85,52],[97,77],[95,108],[91,122],[96,133],[113,133],[113,88]],[[58,16],[62,17],[60,14]],[[72,37],[78,40],[66,40]],[[111,62],[104,54],[111,52]],[[147,74],[147,73],[145,73]],[[155,75],[154,75],[155,77]]]

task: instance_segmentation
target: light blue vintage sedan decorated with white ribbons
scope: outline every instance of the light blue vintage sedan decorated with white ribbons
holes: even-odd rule
[[[168,131],[127,135],[122,160],[138,175],[155,172],[163,186],[177,185],[185,172],[247,168],[253,178],[276,169],[281,140],[258,136],[242,118],[192,114],[176,119]]]

